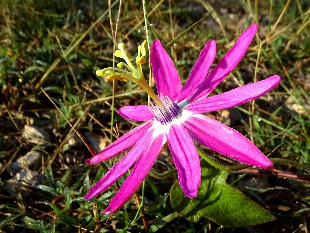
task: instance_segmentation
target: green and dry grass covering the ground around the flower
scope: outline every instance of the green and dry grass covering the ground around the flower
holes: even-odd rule
[[[210,7],[220,5],[202,0],[171,0],[169,7],[168,1],[157,5],[158,2],[146,2],[146,11],[151,13],[148,15],[150,43],[160,39],[167,44],[174,38],[172,35],[176,36],[193,25],[210,11]],[[258,5],[255,6],[255,2]],[[270,6],[270,3],[273,5]],[[290,1],[285,8],[286,3],[282,0],[225,1],[215,14],[175,40],[166,50],[174,60],[184,84],[206,41],[215,39],[217,43],[214,67],[246,26],[252,22],[262,22],[258,37],[253,40],[246,56],[216,92],[230,90],[239,83],[244,85],[253,82],[261,44],[257,80],[278,74],[281,76],[281,85],[255,101],[252,123],[249,121],[249,105],[236,107],[231,114],[236,114],[238,118],[231,127],[248,138],[252,128],[254,143],[264,154],[272,152],[272,158],[286,158],[309,166],[310,115],[307,106],[310,104],[310,4],[306,0]],[[75,1],[73,4],[72,1],[59,0],[5,0],[0,6],[0,162],[5,166],[33,148],[39,148],[47,155],[36,170],[38,173],[43,171],[46,176],[40,185],[33,187],[24,183],[12,188],[9,181],[11,176],[6,171],[1,172],[0,229],[5,232],[125,232],[126,229],[127,232],[143,232],[135,198],[127,202],[107,222],[108,225],[104,225],[108,215],[102,214],[102,210],[115,191],[111,188],[98,199],[83,199],[89,187],[103,176],[104,170],[100,166],[84,163],[86,158],[91,157],[86,147],[63,147],[62,142],[69,138],[70,126],[38,88],[44,77],[40,86],[72,124],[79,120],[77,130],[82,133],[95,132],[109,141],[112,81],[95,75],[98,68],[110,67],[113,62],[113,36],[107,1]],[[282,11],[275,29],[269,27],[277,22]],[[111,8],[113,28],[117,14],[118,2]],[[102,19],[93,25],[100,17]],[[116,43],[124,42],[128,52],[136,55],[136,48],[144,39],[142,1],[123,1]],[[117,57],[115,62],[119,62]],[[148,73],[147,65],[144,67],[147,78]],[[114,107],[118,109],[128,104],[147,104],[148,96],[137,92],[139,90],[132,82],[116,81]],[[300,106],[300,113],[285,106],[288,98]],[[212,114],[217,119],[220,116],[220,112]],[[122,135],[135,127],[137,122],[126,121],[114,112],[113,127],[116,123]],[[22,137],[25,124],[47,130],[52,135],[51,143],[40,146],[29,143]],[[117,135],[113,133],[113,140],[116,138]],[[14,153],[15,158],[10,161]],[[66,153],[72,154],[76,162],[66,162],[63,159]],[[211,151],[206,153],[217,157]],[[53,155],[55,160],[49,166]],[[117,159],[105,165],[111,167]],[[231,165],[228,161],[221,162]],[[155,177],[151,173],[146,178],[143,210],[150,231],[157,228],[160,228],[157,232],[232,231],[207,219],[193,224],[177,217],[168,195],[170,187],[177,180],[173,170],[175,167],[162,159],[157,160],[153,168],[155,173],[168,172]],[[277,165],[277,169],[303,172],[280,165]],[[125,177],[117,185],[121,185]],[[228,183],[232,182],[277,217],[276,221],[240,231],[294,232],[300,224],[310,224],[307,219],[310,204],[308,184],[250,174],[240,177],[231,174]],[[142,189],[137,194],[141,197]]]

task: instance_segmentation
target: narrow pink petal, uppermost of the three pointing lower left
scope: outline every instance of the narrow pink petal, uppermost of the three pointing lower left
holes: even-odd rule
[[[153,121],[147,121],[144,124],[124,134],[115,142],[104,148],[93,158],[86,159],[86,162],[91,164],[99,163],[109,158],[112,158],[114,155],[131,147],[148,131],[148,129],[152,126],[152,122]]]

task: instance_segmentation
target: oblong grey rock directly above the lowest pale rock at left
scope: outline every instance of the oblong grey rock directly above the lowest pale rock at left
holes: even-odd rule
[[[15,173],[26,168],[37,168],[42,163],[44,154],[39,151],[29,151],[23,157],[20,157],[15,162],[12,162],[7,167],[7,172],[13,176]]]

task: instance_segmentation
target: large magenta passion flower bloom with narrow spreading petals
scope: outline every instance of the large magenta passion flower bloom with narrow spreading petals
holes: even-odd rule
[[[272,169],[272,162],[249,139],[219,121],[201,114],[247,103],[266,94],[279,84],[280,77],[273,75],[265,80],[207,97],[240,62],[256,31],[256,24],[246,29],[210,72],[216,45],[214,40],[208,41],[197,58],[184,87],[181,85],[178,72],[169,55],[160,41],[155,40],[150,51],[150,60],[161,102],[157,100],[156,105],[152,104],[152,106],[120,108],[119,113],[122,117],[146,122],[124,134],[93,158],[86,160],[90,164],[99,163],[133,145],[126,156],[95,183],[85,199],[91,199],[106,190],[134,165],[121,189],[104,210],[104,213],[116,212],[138,189],[166,142],[178,171],[179,184],[189,198],[197,196],[201,179],[199,155],[193,140],[239,162]],[[128,56],[125,57],[125,52],[123,52],[122,50],[126,60]],[[136,60],[138,66],[143,64],[143,62],[139,63],[143,60],[139,56],[140,54]],[[145,62],[145,59],[143,61]],[[131,63],[129,67],[132,66],[130,65]],[[135,74],[133,71],[132,73]],[[98,74],[104,75],[103,72]],[[115,78],[120,74],[111,75]],[[126,79],[129,75],[121,74],[120,77],[117,79]]]

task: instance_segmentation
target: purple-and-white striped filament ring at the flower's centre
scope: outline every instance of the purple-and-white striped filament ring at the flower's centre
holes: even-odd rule
[[[154,105],[153,103],[151,103],[151,107],[149,107],[158,122],[162,125],[167,125],[173,120],[181,117],[181,108],[168,96],[161,98],[161,100],[164,107]]]

